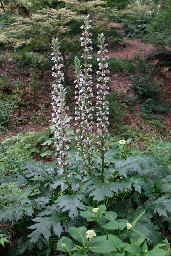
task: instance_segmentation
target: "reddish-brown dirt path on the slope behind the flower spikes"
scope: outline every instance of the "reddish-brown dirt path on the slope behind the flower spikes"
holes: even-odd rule
[[[102,21],[98,21],[101,23]],[[117,31],[124,36],[124,31],[122,30],[121,23],[118,22],[109,22],[108,27],[113,27],[114,29],[117,29]],[[108,52],[108,55],[111,58],[129,58],[133,59],[136,55],[141,55],[142,57],[145,56],[145,54],[154,49],[152,44],[145,44],[143,42],[140,42],[137,39],[128,39],[126,37],[123,38],[125,47],[120,47],[118,49],[112,50]]]

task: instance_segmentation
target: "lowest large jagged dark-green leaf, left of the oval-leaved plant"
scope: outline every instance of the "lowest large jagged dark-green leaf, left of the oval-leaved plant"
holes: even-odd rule
[[[67,218],[67,215],[61,212],[56,212],[52,214],[51,217],[36,217],[33,221],[38,223],[29,227],[29,229],[35,229],[29,235],[29,237],[31,237],[30,242],[37,242],[41,234],[48,240],[51,236],[51,227],[53,227],[55,234],[60,237],[61,232],[63,232],[61,222],[65,221]]]

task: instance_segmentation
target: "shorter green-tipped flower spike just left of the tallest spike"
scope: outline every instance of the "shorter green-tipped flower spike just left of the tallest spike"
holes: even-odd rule
[[[83,121],[82,121],[82,114],[83,114],[83,106],[82,106],[82,86],[83,86],[83,78],[82,75],[82,66],[77,56],[74,59],[75,64],[75,74],[76,79],[74,80],[75,85],[75,99],[76,99],[76,106],[75,106],[75,126],[78,128],[76,129],[76,133],[78,133],[78,137],[76,137],[77,146],[78,146],[78,154],[81,154],[82,159],[84,159],[84,148],[83,148]]]

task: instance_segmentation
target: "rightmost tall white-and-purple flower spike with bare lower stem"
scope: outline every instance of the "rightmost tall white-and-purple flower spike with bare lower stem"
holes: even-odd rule
[[[102,182],[104,181],[104,152],[106,150],[105,148],[105,143],[107,142],[107,136],[108,134],[108,128],[107,126],[109,125],[109,121],[108,121],[108,115],[109,115],[109,107],[108,107],[108,101],[106,100],[106,95],[108,94],[108,90],[109,90],[109,86],[108,86],[108,74],[109,74],[109,70],[107,70],[108,68],[108,63],[106,63],[106,60],[109,59],[109,56],[105,56],[105,54],[108,52],[108,50],[105,49],[105,47],[108,44],[105,44],[105,37],[104,34],[98,34],[98,42],[99,45],[98,47],[100,48],[100,50],[97,52],[98,55],[101,55],[100,58],[97,58],[98,60],[98,65],[99,65],[99,69],[100,71],[97,71],[97,81],[99,82],[99,84],[97,84],[97,101],[96,101],[96,105],[97,105],[97,110],[98,112],[96,113],[97,115],[97,127],[98,127],[98,134],[97,134],[97,138],[99,138],[100,140],[97,141],[97,144],[99,146],[99,151],[101,153],[101,158],[102,158],[102,167],[101,167],[101,179]]]

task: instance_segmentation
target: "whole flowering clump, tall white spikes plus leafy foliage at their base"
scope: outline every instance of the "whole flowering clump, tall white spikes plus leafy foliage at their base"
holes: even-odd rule
[[[76,134],[69,127],[56,38],[52,121],[57,161],[23,162],[20,173],[1,174],[0,219],[4,232],[12,234],[8,255],[164,256],[169,253],[171,223],[169,169],[157,157],[133,153],[127,148],[131,139],[110,140],[107,45],[104,34],[98,34],[95,81],[92,21],[89,15],[83,18],[83,64],[75,58]],[[76,145],[71,149],[73,138]]]

